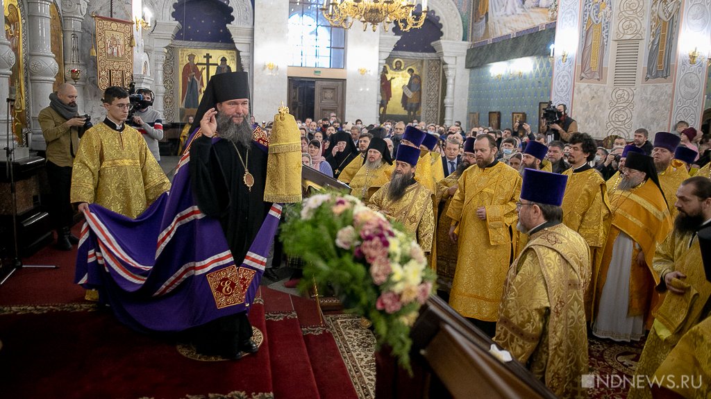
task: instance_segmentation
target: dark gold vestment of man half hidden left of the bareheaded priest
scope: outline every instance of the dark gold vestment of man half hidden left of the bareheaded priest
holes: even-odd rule
[[[434,193],[434,203],[437,204],[437,288],[449,293],[456,270],[456,244],[449,238],[451,218],[447,216],[449,203],[453,198],[449,195],[449,187],[455,186],[459,180],[456,173],[437,182],[437,192]]]

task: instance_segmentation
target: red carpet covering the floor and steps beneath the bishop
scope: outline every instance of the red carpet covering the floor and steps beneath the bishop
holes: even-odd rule
[[[264,334],[260,351],[197,361],[178,352],[175,337],[134,332],[83,300],[74,258],[75,251],[43,248],[23,261],[60,268],[18,270],[0,286],[1,397],[358,398],[307,298],[262,287],[250,311]]]

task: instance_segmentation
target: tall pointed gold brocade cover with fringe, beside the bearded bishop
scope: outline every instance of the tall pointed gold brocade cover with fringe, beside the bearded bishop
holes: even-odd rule
[[[284,104],[274,115],[269,136],[264,202],[301,202],[301,133]]]

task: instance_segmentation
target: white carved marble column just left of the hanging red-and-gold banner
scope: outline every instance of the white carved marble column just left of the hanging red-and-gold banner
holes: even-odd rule
[[[82,20],[87,13],[88,0],[64,0],[62,1],[62,30],[64,32],[64,65],[65,82],[74,84],[80,97],[84,95],[84,86],[87,82],[87,65],[82,59],[80,43],[82,43]],[[72,35],[76,34],[77,48],[76,62],[72,62]],[[83,53],[87,53],[87,49]],[[70,75],[70,70],[77,68],[81,71],[79,80],[74,82]],[[83,99],[77,102],[79,113],[83,113]]]

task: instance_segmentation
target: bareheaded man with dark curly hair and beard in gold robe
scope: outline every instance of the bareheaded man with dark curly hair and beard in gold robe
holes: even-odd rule
[[[610,221],[610,204],[607,186],[602,175],[589,165],[595,158],[597,144],[587,133],[573,133],[570,136],[570,169],[563,175],[568,177],[565,197],[563,197],[563,224],[580,234],[590,247],[590,270],[599,268],[602,261],[602,247],[607,239]],[[584,282],[585,287],[589,281]],[[586,314],[592,317],[592,293],[586,292]]]

